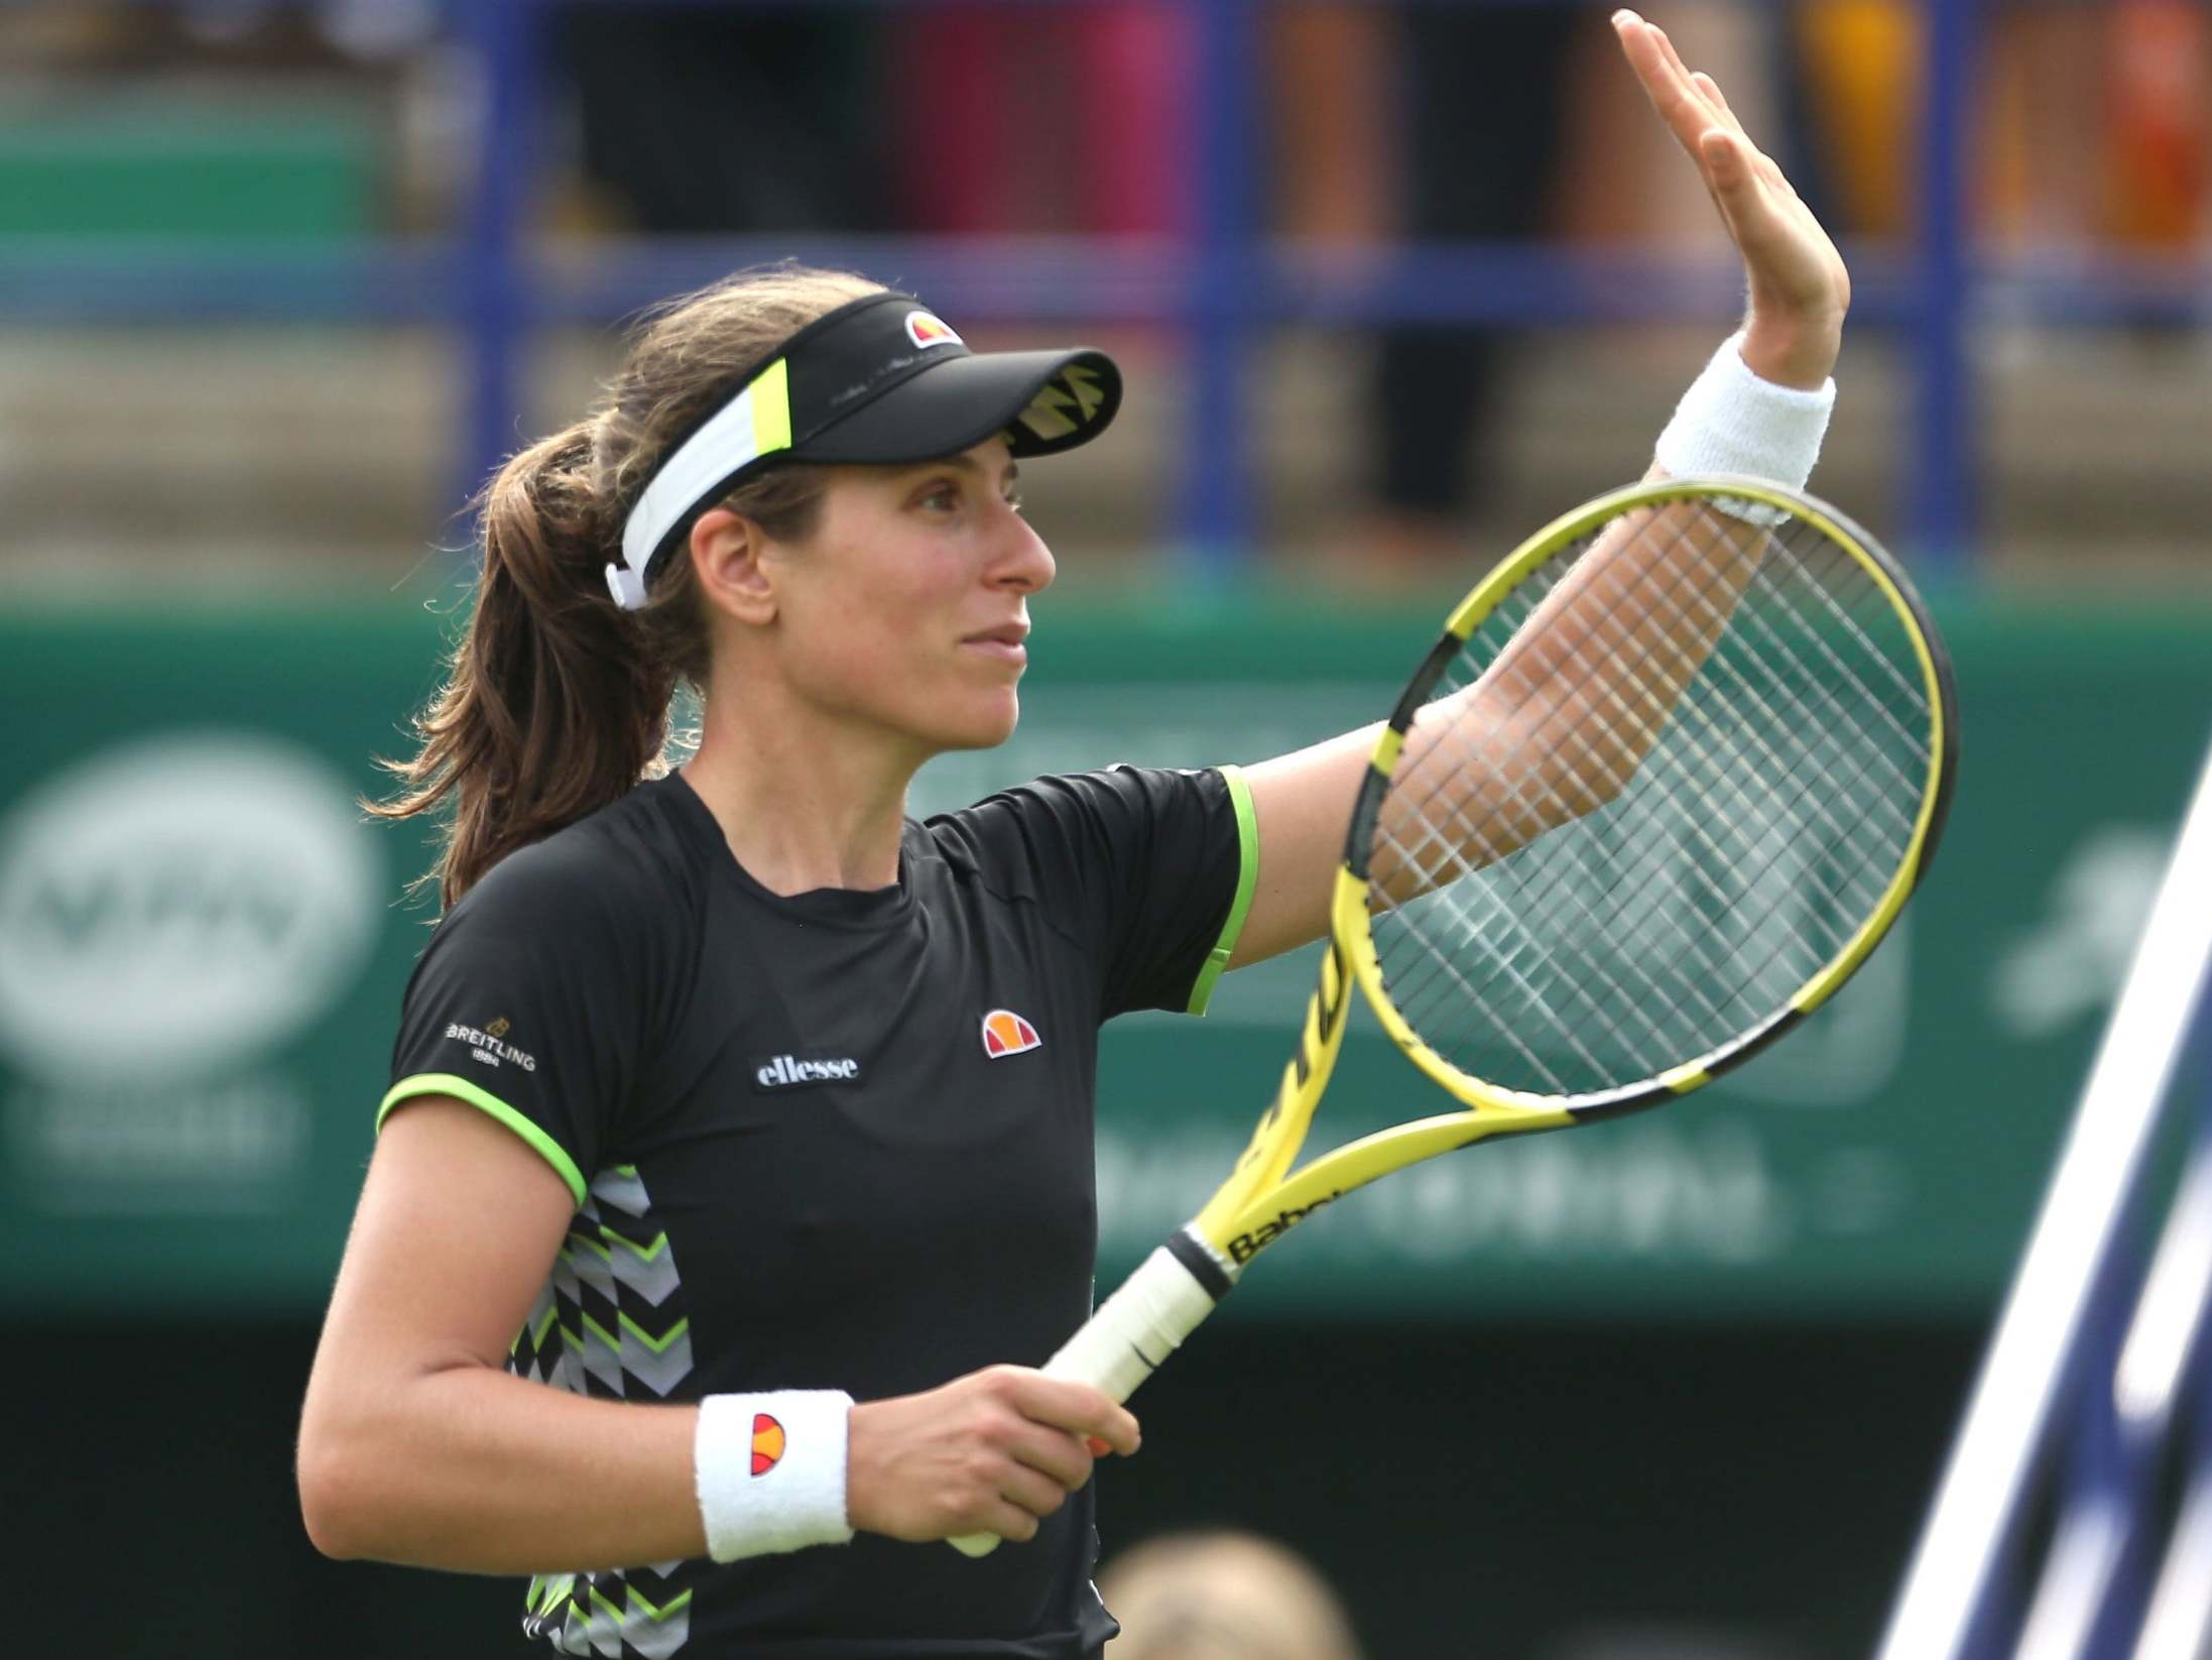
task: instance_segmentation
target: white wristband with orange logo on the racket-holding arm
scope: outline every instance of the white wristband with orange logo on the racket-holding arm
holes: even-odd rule
[[[692,1474],[706,1554],[741,1556],[845,1545],[843,1390],[710,1394],[699,1401]]]

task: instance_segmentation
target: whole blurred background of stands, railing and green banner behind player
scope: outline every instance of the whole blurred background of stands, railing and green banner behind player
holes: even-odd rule
[[[1851,259],[1814,489],[1936,598],[1966,772],[1944,881],[1796,1047],[1332,1211],[1139,1399],[1108,1556],[1283,1538],[1376,1660],[1874,1645],[2212,730],[2208,9],[1650,13]],[[1741,303],[1579,4],[15,0],[0,86],[33,1651],[524,1651],[515,1585],[319,1560],[290,1441],[431,921],[354,799],[469,489],[622,317],[799,255],[1121,359],[1110,438],[1024,478],[1062,580],[1022,735],[938,808],[1363,719],[1644,469]],[[1241,1144],[1307,978],[1108,1034],[1102,1279]],[[1371,1034],[1343,1078],[1345,1129],[1418,1109]]]

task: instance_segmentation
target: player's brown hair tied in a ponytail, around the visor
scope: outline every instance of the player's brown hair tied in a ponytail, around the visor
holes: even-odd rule
[[[622,520],[668,445],[737,376],[823,312],[878,283],[779,266],[672,301],[644,328],[602,407],[509,458],[480,498],[482,571],[445,686],[416,717],[420,748],[385,766],[369,803],[411,819],[453,801],[436,876],[445,905],[515,848],[626,795],[664,766],[677,682],[706,693],[710,640],[690,560],[672,558],[641,611],[606,593]],[[779,540],[821,507],[818,467],[776,467],[730,494]]]

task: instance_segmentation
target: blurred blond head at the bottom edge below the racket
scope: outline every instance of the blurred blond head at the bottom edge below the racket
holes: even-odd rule
[[[1161,1534],[1099,1571],[1121,1622],[1106,1660],[1360,1660],[1314,1567],[1254,1534]]]

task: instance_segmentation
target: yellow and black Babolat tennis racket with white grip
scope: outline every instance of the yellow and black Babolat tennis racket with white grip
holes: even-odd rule
[[[1044,1370],[1126,1401],[1323,1204],[1750,1060],[1896,921],[1955,761],[1936,626],[1834,509],[1657,480],[1533,536],[1451,613],[1376,737],[1321,987],[1252,1144]],[[1354,983],[1460,1104],[1292,1171]]]

